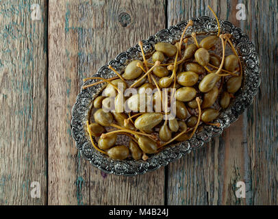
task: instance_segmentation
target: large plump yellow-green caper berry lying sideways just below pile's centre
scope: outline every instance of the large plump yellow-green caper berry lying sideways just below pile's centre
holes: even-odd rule
[[[158,125],[162,121],[162,119],[162,114],[156,112],[148,112],[136,118],[134,125],[136,129],[139,129],[140,131],[151,133],[153,131],[153,127]]]

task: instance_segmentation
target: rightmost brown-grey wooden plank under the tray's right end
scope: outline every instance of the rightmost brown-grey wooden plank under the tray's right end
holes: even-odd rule
[[[246,21],[236,20],[237,3],[246,6]],[[167,203],[277,205],[277,1],[169,0],[168,25],[212,16],[207,5],[249,35],[262,62],[262,86],[251,107],[222,136],[168,166]],[[246,198],[236,198],[238,181],[246,183]]]

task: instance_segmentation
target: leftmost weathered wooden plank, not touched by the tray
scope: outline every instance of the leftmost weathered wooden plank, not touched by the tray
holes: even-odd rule
[[[0,3],[0,205],[47,203],[47,3],[36,3],[38,21],[30,2]]]

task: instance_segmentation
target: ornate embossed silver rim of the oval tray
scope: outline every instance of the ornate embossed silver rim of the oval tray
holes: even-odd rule
[[[194,22],[194,25],[188,28],[186,36],[191,35],[192,31],[195,31],[197,34],[207,34],[218,30],[214,18],[201,16],[199,18],[191,18],[191,20]],[[145,53],[151,53],[154,50],[154,44],[157,42],[175,42],[179,40],[187,23],[188,21],[183,21],[168,29],[162,29],[154,36],[143,40]],[[223,132],[223,129],[229,127],[231,123],[236,121],[244,109],[251,104],[260,86],[259,59],[255,46],[249,40],[248,36],[242,33],[240,28],[235,27],[229,21],[220,21],[220,32],[230,33],[232,35],[231,41],[240,55],[244,72],[242,87],[238,91],[236,99],[233,99],[230,107],[223,111],[216,119],[216,122],[220,123],[220,127],[204,125],[203,130],[195,133],[190,140],[181,142],[181,144],[173,144],[173,146],[167,147],[164,151],[150,156],[147,161],[128,159],[114,161],[93,148],[88,133],[86,132],[86,120],[88,120],[88,112],[90,111],[90,107],[92,107],[92,101],[103,89],[103,84],[98,84],[81,90],[77,95],[75,105],[73,105],[71,120],[72,134],[81,155],[92,166],[106,173],[125,176],[144,174],[148,171],[157,170],[160,166],[166,166],[169,162],[174,162],[183,155],[190,153],[190,151],[199,149],[205,142],[209,142],[214,136],[219,136]],[[142,55],[140,47],[136,44],[135,47],[131,47],[127,51],[118,54],[109,64],[114,66],[118,72],[123,72],[127,61],[138,59],[142,60]],[[115,74],[108,68],[108,65],[105,65],[99,68],[97,74],[94,76],[110,78],[114,77]],[[84,85],[94,82],[96,80],[86,81]]]

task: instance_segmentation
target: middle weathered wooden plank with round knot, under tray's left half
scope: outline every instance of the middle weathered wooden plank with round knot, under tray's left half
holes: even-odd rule
[[[49,204],[164,204],[164,168],[105,175],[77,155],[70,126],[81,79],[164,25],[162,1],[49,1]]]

